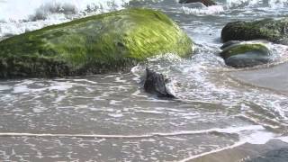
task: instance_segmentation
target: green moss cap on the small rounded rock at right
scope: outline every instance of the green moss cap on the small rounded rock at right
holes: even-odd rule
[[[269,55],[269,49],[266,45],[261,43],[239,43],[232,46],[229,46],[220,53],[220,56],[224,59],[229,58],[231,56],[235,56],[238,54],[244,54],[247,52],[257,52],[263,55]]]

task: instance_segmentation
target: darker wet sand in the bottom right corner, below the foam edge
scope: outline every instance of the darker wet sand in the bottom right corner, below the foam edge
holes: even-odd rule
[[[220,152],[191,159],[190,162],[287,162],[288,143],[278,139],[266,144],[243,144]]]

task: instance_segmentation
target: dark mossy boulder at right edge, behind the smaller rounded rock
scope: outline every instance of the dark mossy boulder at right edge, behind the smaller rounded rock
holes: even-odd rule
[[[288,18],[228,23],[221,31],[221,39],[224,42],[229,40],[264,39],[288,45]]]

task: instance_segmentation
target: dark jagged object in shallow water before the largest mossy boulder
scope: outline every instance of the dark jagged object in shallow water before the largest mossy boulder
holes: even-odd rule
[[[173,94],[167,92],[165,81],[162,74],[146,68],[146,79],[144,82],[144,89],[146,92],[157,94],[158,97],[174,98],[175,96]]]

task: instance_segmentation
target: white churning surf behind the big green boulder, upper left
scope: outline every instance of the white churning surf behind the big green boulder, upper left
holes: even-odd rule
[[[0,2],[0,38],[123,8],[130,0],[9,0]]]

